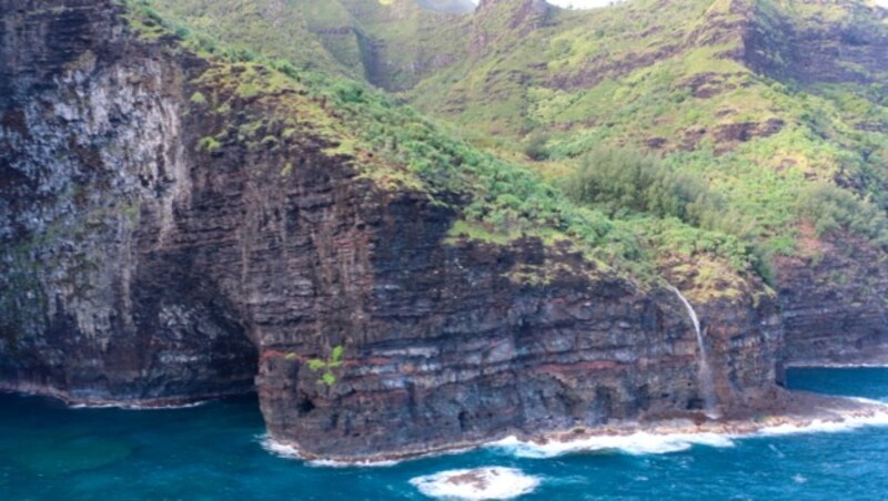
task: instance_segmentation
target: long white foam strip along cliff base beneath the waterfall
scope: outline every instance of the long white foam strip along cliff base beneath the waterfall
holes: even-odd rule
[[[623,436],[588,437],[569,442],[552,441],[537,444],[508,437],[490,447],[505,450],[518,458],[554,458],[577,452],[618,451],[633,456],[665,454],[690,449],[693,446],[733,447],[730,437],[717,433],[657,434],[636,432]]]

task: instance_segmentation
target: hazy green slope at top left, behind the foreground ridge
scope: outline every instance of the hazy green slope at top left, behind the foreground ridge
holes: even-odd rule
[[[465,47],[444,33],[465,13],[460,1],[148,0],[161,16],[229,45],[300,68],[408,89]]]

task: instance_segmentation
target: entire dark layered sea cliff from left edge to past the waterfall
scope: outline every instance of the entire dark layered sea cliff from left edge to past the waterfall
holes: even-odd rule
[[[238,94],[246,70],[120,14],[0,6],[2,387],[157,403],[255,384],[273,437],[343,459],[702,409],[674,294],[538,239],[448,239],[455,209],[310,129],[209,141],[297,96]],[[702,308],[726,411],[779,378],[776,304],[753,296]]]

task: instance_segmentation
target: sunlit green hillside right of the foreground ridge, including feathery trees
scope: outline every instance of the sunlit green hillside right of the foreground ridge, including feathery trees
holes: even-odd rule
[[[852,2],[751,4],[771,50],[757,57],[781,68],[791,59],[783,22],[838,23],[846,39],[886,33]],[[503,25],[513,14],[504,6],[475,21],[494,27],[495,48],[425,79],[411,100],[548,159],[541,170],[634,235],[647,249],[640,259],[699,259],[719,241],[726,262],[773,282],[770,256],[796,252],[804,222],[825,238],[850,232],[884,245],[885,73],[840,60],[872,83],[803,86],[757,73],[734,55],[749,48],[743,14],[726,1],[558,11],[522,37]]]

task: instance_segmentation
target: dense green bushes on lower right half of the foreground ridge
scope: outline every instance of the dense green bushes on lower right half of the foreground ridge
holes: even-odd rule
[[[507,242],[528,235],[546,239],[557,233],[616,267],[638,264],[632,235],[601,212],[577,206],[539,174],[454,140],[415,111],[394,106],[385,94],[356,82],[329,81],[323,95],[355,140],[384,161],[367,175],[425,191],[438,203],[453,194],[471,196],[463,213],[468,224],[483,228],[475,235],[500,235]]]

